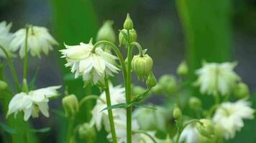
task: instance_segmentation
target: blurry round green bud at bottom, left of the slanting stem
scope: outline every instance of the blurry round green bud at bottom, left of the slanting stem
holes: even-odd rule
[[[90,124],[84,123],[78,128],[78,134],[81,139],[93,142],[96,137],[96,129]]]

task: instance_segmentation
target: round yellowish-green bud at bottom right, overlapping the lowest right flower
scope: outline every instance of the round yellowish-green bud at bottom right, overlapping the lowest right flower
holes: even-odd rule
[[[200,119],[201,123],[196,123],[196,129],[204,136],[211,138],[214,135],[214,125],[209,119]]]

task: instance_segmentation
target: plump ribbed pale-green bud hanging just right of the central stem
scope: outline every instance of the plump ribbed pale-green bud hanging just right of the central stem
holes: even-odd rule
[[[147,54],[136,55],[132,58],[132,69],[139,80],[146,79],[152,71],[153,60]]]

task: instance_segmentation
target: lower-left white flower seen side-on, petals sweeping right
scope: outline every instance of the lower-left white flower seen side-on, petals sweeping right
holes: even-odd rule
[[[42,112],[45,117],[49,117],[48,102],[49,98],[58,96],[57,89],[61,86],[47,87],[42,89],[33,90],[31,92],[14,95],[9,103],[9,110],[7,117],[14,113],[16,117],[18,112],[24,112],[24,120],[27,121],[30,116],[36,118],[39,116],[39,112]]]

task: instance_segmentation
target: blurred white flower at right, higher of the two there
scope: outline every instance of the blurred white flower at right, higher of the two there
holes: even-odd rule
[[[230,94],[236,82],[240,80],[240,77],[233,71],[236,65],[236,62],[221,64],[205,62],[201,69],[196,70],[198,79],[195,84],[200,86],[202,94]]]

